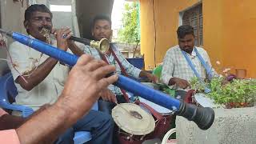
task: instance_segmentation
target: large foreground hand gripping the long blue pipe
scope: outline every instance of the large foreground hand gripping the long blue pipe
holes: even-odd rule
[[[99,93],[118,80],[118,75],[106,77],[106,74],[114,71],[114,66],[83,54],[70,71],[64,90],[58,98],[58,106],[65,107],[78,116],[86,114],[98,100]]]

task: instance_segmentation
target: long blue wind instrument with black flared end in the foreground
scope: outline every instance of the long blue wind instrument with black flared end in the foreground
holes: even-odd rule
[[[11,38],[14,38],[26,46],[30,46],[34,50],[38,50],[43,54],[56,58],[70,66],[74,66],[78,61],[78,57],[76,55],[67,53],[66,51],[60,50],[54,46],[50,46],[45,42],[39,41],[38,39],[33,39],[17,32],[6,32],[2,29],[0,29],[0,32],[10,36]],[[185,102],[181,102],[178,99],[170,98],[170,95],[164,94],[158,90],[151,89],[148,86],[144,86],[131,78],[126,78],[122,74],[118,75],[118,81],[115,82],[114,85],[139,95],[140,97],[154,102],[160,106],[166,107],[169,110],[174,110],[175,114],[195,122],[202,130],[207,130],[214,122],[213,109],[209,107],[200,108]]]

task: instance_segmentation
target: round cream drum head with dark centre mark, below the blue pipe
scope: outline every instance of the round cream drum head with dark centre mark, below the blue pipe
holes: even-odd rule
[[[155,127],[152,115],[133,103],[115,106],[112,110],[112,117],[119,128],[129,134],[150,134]]]

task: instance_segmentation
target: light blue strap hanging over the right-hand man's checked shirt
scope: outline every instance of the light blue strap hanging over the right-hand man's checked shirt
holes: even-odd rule
[[[206,64],[206,62],[203,60],[202,56],[198,53],[198,50],[194,47],[195,53],[197,54],[199,61],[202,62],[202,66],[205,67],[206,69],[206,74],[209,75],[210,78],[212,78],[212,74],[209,71],[210,70],[210,66],[208,66]],[[205,87],[205,93],[210,93],[210,89],[206,86],[205,82],[203,82],[202,78],[200,77],[200,74],[198,73],[197,70],[195,70],[195,66],[194,64],[191,62],[190,58],[187,56],[186,52],[182,50],[182,54],[184,55],[184,57],[186,58],[186,62],[189,63],[191,69],[194,71],[194,74],[196,75],[196,77],[199,79],[199,81],[202,83],[202,85]]]

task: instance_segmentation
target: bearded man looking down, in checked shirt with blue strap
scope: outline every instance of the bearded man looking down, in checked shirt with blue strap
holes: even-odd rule
[[[177,35],[178,45],[167,50],[163,60],[162,82],[177,89],[187,89],[190,88],[191,78],[197,77],[196,73],[203,80],[212,78],[216,72],[210,64],[206,50],[194,46],[193,27],[179,26]],[[196,72],[192,70],[189,61],[193,63],[191,66],[194,66]]]

